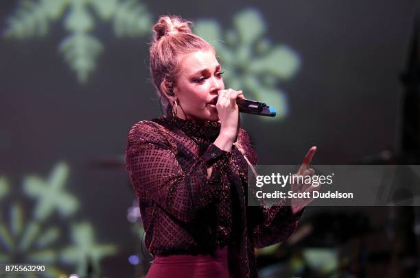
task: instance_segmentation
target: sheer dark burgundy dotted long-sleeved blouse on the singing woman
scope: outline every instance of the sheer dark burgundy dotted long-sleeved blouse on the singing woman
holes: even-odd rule
[[[211,254],[229,246],[234,277],[257,277],[254,248],[282,242],[301,212],[290,207],[248,207],[248,164],[257,163],[240,129],[231,152],[213,142],[218,122],[167,116],[135,124],[128,134],[127,170],[139,199],[145,245],[154,255]],[[213,166],[207,179],[207,168]]]

